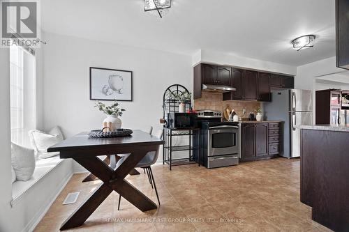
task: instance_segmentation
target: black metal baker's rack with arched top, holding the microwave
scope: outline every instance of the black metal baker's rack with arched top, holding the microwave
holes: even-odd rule
[[[168,87],[163,93],[163,118],[167,118],[167,114],[178,112],[179,111],[179,103],[177,100],[173,98],[172,93],[183,94],[189,93],[186,87],[181,86],[180,84],[174,84]],[[185,105],[185,111],[191,109],[191,100],[186,100],[183,102]],[[164,125],[163,127],[163,138],[165,140],[165,144],[163,146],[163,164],[168,164],[170,166],[170,170],[172,170],[173,166],[184,165],[184,164],[195,164],[194,161],[194,150],[200,148],[200,137],[198,137],[198,141],[195,144],[198,144],[198,147],[193,146],[193,134],[195,131],[200,130],[198,127],[194,128],[170,128]],[[188,145],[181,146],[173,146],[172,138],[173,137],[184,137],[188,136]],[[188,151],[188,157],[179,157],[176,158],[175,153],[181,151]],[[200,166],[200,160],[199,160]]]

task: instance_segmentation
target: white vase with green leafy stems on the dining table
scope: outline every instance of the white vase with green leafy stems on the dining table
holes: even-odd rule
[[[111,131],[121,128],[121,119],[119,116],[122,116],[125,109],[120,107],[117,100],[114,100],[112,105],[109,106],[105,105],[103,102],[96,102],[94,107],[97,107],[99,111],[107,115],[107,118],[103,121],[103,127],[109,127]]]

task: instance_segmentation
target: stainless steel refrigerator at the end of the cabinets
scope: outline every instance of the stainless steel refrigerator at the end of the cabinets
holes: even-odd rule
[[[267,120],[285,121],[283,127],[283,157],[300,156],[300,130],[297,125],[313,124],[312,93],[308,90],[272,91],[272,102],[264,104]]]

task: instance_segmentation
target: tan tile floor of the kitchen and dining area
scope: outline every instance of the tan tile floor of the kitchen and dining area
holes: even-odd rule
[[[311,220],[299,201],[299,160],[277,158],[235,167],[205,169],[194,164],[153,167],[161,206],[141,212],[125,199],[117,210],[113,192],[80,228],[71,231],[330,231]],[[142,170],[140,170],[142,171]],[[35,231],[59,231],[61,223],[100,185],[75,174]],[[142,172],[127,180],[154,202],[155,191]],[[77,203],[62,206],[66,194]]]

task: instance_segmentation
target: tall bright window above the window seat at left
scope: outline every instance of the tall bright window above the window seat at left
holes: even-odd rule
[[[26,49],[10,47],[11,141],[30,146],[28,132],[36,128],[36,63]]]

